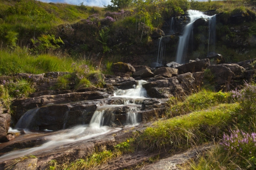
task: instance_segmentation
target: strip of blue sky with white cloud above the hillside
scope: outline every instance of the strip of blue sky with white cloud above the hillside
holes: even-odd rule
[[[84,2],[85,6],[100,6],[111,4],[111,0],[40,0],[46,3],[68,3],[78,5],[79,3]]]

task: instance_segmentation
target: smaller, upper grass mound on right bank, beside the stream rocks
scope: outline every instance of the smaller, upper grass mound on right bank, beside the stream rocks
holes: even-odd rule
[[[181,101],[171,98],[169,101],[171,108],[167,112],[167,116],[173,117],[192,111],[200,111],[221,103],[229,103],[230,101],[230,93],[223,93],[221,91],[216,93],[202,89],[198,93],[192,94]]]

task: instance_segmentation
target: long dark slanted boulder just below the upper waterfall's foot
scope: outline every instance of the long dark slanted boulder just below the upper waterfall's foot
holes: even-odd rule
[[[195,73],[204,71],[210,65],[209,59],[201,59],[200,61],[190,62],[187,64],[176,67],[179,70],[179,74]]]

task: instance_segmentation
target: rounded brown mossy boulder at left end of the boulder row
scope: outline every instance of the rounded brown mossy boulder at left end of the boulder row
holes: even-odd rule
[[[130,77],[135,72],[135,68],[124,62],[117,62],[113,64],[112,70],[114,75],[120,77]]]

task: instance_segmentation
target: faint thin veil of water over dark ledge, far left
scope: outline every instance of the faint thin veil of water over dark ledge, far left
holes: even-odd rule
[[[39,111],[40,108],[34,108],[20,117],[19,121],[15,125],[15,129],[29,129],[32,127],[32,123],[35,121],[35,115]]]

